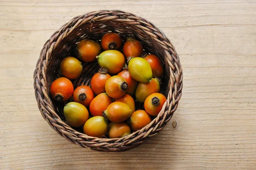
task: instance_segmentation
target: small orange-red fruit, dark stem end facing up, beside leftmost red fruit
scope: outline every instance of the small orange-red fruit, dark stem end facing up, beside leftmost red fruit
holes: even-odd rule
[[[74,102],[78,102],[85,107],[88,107],[94,99],[93,90],[87,85],[77,87],[73,94]]]

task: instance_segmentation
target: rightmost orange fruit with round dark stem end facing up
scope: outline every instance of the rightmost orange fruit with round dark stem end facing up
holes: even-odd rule
[[[149,95],[144,102],[145,111],[151,116],[157,116],[163,104],[166,102],[166,97],[160,93],[153,93]]]

